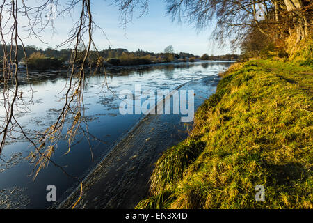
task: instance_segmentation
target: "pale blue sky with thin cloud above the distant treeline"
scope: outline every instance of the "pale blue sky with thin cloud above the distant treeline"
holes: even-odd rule
[[[193,54],[226,54],[230,49],[218,49],[214,42],[209,39],[211,28],[202,30],[200,33],[190,24],[178,24],[172,22],[170,15],[166,15],[166,3],[159,0],[150,0],[148,13],[138,17],[141,11],[135,12],[133,21],[127,25],[126,31],[120,25],[120,11],[117,6],[110,5],[111,1],[92,1],[93,19],[102,27],[109,38],[111,47],[124,48],[129,51],[143,49],[149,52],[163,52],[168,45],[172,45],[175,52],[190,52]],[[79,10],[73,13],[77,20]],[[57,33],[52,34],[49,29],[45,31],[43,40],[47,44],[40,43],[35,38],[24,40],[26,45],[36,45],[45,49],[48,46],[55,47],[68,37],[74,20],[68,17],[58,17],[54,22]],[[97,31],[94,33],[95,44],[99,49],[106,49],[110,43],[104,35]]]

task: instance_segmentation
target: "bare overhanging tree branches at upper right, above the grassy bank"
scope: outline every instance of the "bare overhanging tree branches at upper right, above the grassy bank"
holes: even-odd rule
[[[122,15],[131,14],[129,6],[147,7],[148,0],[115,0]],[[297,32],[297,41],[309,37],[312,26],[312,1],[303,0],[166,0],[172,20],[194,24],[198,30],[215,26],[212,38],[220,46],[230,40],[238,47],[251,28],[256,27],[262,35],[279,39]],[[264,15],[259,18],[260,9]],[[125,20],[127,22],[127,20]]]

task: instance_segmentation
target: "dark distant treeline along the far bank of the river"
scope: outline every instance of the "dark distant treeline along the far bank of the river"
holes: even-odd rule
[[[14,49],[15,47],[13,47]],[[27,64],[29,68],[35,68],[38,70],[46,69],[58,69],[62,68],[64,63],[72,63],[71,55],[73,49],[52,49],[52,47],[47,47],[47,49],[38,49],[33,45],[27,45],[26,47],[18,47],[17,60],[25,62],[25,54],[27,57]],[[7,46],[7,52],[10,52],[10,46]],[[83,50],[77,50],[77,63],[80,63],[82,58],[81,55]],[[12,53],[14,54],[14,52]],[[154,53],[147,52],[141,49],[136,49],[134,52],[129,52],[127,49],[117,48],[117,49],[103,49],[100,51],[91,50],[90,56],[88,56],[88,66],[95,66],[99,57],[102,57],[102,61],[106,66],[127,66],[127,65],[141,65],[150,63],[163,63],[172,61],[197,61],[197,60],[237,60],[239,56],[236,54],[226,54],[221,56],[208,56],[208,54],[203,54],[202,56],[189,54],[186,52],[176,53]],[[2,66],[3,60],[3,45],[0,45],[0,66]]]

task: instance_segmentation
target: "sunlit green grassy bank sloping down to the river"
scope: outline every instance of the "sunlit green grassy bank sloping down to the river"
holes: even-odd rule
[[[136,208],[313,208],[312,72],[312,63],[231,66]]]

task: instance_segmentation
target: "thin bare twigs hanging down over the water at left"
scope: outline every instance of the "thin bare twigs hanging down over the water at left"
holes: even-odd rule
[[[20,109],[27,109],[22,91],[19,90],[19,79],[22,72],[19,70],[17,55],[20,50],[24,52],[26,77],[29,77],[27,56],[24,51],[24,36],[20,36],[18,24],[20,20],[26,20],[27,24],[24,29],[28,31],[28,35],[42,41],[40,35],[49,27],[49,24],[54,29],[53,20],[47,20],[45,17],[47,8],[49,9],[51,3],[54,3],[54,6],[58,6],[59,9],[61,8],[61,10],[58,10],[56,17],[71,14],[74,8],[80,8],[80,15],[69,31],[69,38],[57,46],[73,46],[67,84],[63,90],[65,91],[63,108],[49,128],[40,132],[29,132],[22,128],[16,116]],[[86,75],[88,75],[86,73],[86,62],[90,57],[90,49],[91,47],[97,49],[93,42],[93,31],[97,28],[99,27],[93,22],[90,0],[72,0],[69,4],[63,3],[63,5],[59,1],[40,1],[37,6],[29,6],[23,0],[4,0],[0,5],[0,36],[3,50],[0,83],[3,95],[1,100],[6,110],[6,116],[0,126],[0,154],[6,145],[7,139],[16,139],[16,135],[20,134],[19,139],[27,139],[34,148],[34,151],[29,155],[29,160],[35,165],[34,177],[37,176],[40,169],[47,166],[48,162],[52,162],[67,174],[63,167],[51,160],[51,155],[56,149],[58,140],[62,137],[66,120],[72,120],[70,128],[65,130],[65,139],[67,139],[69,151],[79,130],[89,140],[90,134],[88,134],[88,125],[83,112],[83,92],[86,86]],[[22,45],[22,49],[19,48],[19,45]],[[102,69],[102,62],[102,57],[98,56],[97,66],[93,72]],[[93,75],[92,71],[89,75]],[[32,91],[31,83],[29,83],[29,86]],[[83,122],[85,122],[85,125],[82,125]],[[6,162],[6,160],[3,161]]]

